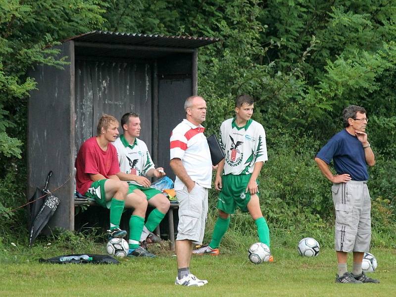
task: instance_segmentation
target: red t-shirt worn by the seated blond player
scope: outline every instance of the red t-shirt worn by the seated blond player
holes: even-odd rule
[[[91,187],[93,181],[89,174],[100,173],[105,178],[120,172],[117,150],[112,144],[107,145],[107,150],[102,150],[96,137],[88,139],[77,153],[74,166],[76,172],[77,192],[84,195]]]

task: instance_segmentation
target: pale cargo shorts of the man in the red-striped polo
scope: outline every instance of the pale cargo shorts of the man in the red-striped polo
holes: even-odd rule
[[[194,244],[202,244],[208,210],[208,192],[208,189],[197,183],[190,193],[187,192],[186,186],[183,190],[176,190],[176,197],[179,200],[176,240],[190,240]]]

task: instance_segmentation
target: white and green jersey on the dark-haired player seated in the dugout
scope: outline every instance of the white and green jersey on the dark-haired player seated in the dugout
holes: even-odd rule
[[[154,163],[151,160],[151,156],[144,141],[135,138],[134,144],[130,145],[124,138],[124,135],[121,135],[113,145],[117,148],[121,172],[134,175],[146,175],[148,170],[154,168]],[[139,185],[134,181],[130,183]]]

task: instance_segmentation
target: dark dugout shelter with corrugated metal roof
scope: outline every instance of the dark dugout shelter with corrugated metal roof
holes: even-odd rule
[[[125,112],[140,114],[140,139],[155,166],[174,179],[170,132],[185,118],[184,100],[197,95],[198,48],[217,41],[93,31],[56,47],[58,58],[68,62],[63,69],[42,65],[30,71],[37,90],[28,103],[27,195],[53,171],[49,190],[61,203],[50,228],[75,229],[74,162],[81,144],[96,135],[102,113],[118,120]]]

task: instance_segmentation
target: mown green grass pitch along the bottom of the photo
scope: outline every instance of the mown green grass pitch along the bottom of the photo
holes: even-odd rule
[[[302,258],[294,249],[277,248],[273,250],[275,262],[260,265],[251,264],[246,253],[194,256],[192,272],[209,281],[200,288],[174,285],[176,257],[169,252],[153,259],[122,259],[120,265],[40,264],[15,256],[0,262],[0,295],[395,296],[396,251],[371,252],[378,268],[369,276],[380,279],[380,284],[334,283],[337,266],[332,249],[321,250],[316,258]]]

